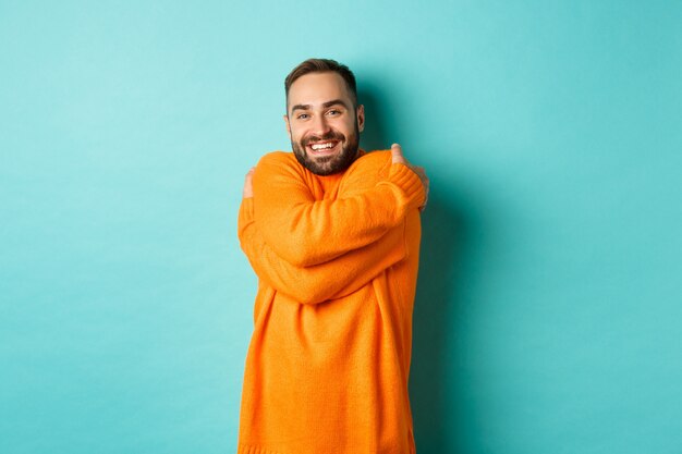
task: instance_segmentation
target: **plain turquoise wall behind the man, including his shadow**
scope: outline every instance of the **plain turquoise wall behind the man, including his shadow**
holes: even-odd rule
[[[0,1],[0,452],[234,452],[244,173],[356,73],[427,168],[419,453],[682,452],[682,2]]]

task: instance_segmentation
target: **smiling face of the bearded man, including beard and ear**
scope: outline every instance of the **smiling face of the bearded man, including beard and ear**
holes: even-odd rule
[[[363,106],[353,108],[345,81],[337,73],[299,77],[289,88],[284,121],[296,159],[317,175],[342,172],[357,157],[365,111]]]

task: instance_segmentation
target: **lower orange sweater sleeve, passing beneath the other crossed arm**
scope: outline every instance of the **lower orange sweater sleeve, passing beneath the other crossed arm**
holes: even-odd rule
[[[242,200],[239,237],[254,271],[268,285],[302,304],[346,296],[406,256],[404,222],[375,243],[324,263],[292,265],[268,245],[253,216],[254,198]]]

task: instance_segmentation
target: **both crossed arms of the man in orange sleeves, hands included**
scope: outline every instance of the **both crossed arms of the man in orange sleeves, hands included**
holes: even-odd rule
[[[428,180],[400,151],[393,148],[387,162],[388,179],[349,171],[350,189],[336,200],[315,200],[285,165],[259,163],[267,181],[252,169],[239,236],[256,274],[295,300],[315,304],[353,293],[403,260],[405,212],[423,208]]]

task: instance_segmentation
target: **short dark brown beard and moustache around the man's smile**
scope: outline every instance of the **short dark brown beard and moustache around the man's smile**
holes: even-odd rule
[[[357,122],[353,134],[345,137],[343,134],[330,131],[322,136],[309,136],[301,139],[296,143],[291,140],[291,148],[293,149],[296,160],[316,175],[333,175],[334,173],[343,172],[351,167],[355,158],[357,157],[360,130]],[[338,140],[341,144],[341,151],[333,156],[309,156],[306,151],[306,147],[316,142]]]

